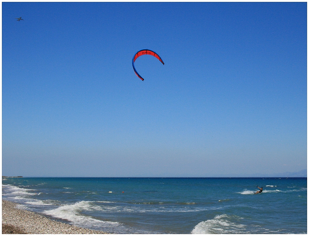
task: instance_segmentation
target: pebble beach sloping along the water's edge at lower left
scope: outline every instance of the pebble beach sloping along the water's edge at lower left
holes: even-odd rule
[[[2,200],[3,234],[108,234],[55,221],[39,213],[18,209],[17,205]]]

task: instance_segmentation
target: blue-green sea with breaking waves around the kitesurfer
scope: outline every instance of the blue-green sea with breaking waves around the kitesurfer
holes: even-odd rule
[[[307,233],[307,178],[3,177],[2,199],[108,233]]]

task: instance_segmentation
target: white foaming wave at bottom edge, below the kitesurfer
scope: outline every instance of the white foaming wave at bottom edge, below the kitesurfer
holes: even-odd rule
[[[245,231],[245,225],[237,223],[239,217],[228,216],[227,214],[217,215],[213,219],[202,221],[198,223],[192,234],[213,234],[213,233],[248,233]],[[234,221],[234,222],[233,222]]]

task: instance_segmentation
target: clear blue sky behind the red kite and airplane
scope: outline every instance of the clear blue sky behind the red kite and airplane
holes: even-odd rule
[[[3,175],[306,168],[307,3],[2,3]]]

